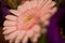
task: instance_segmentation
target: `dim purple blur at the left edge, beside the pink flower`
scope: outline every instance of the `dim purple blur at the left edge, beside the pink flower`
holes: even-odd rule
[[[3,2],[4,0],[0,0],[0,26],[2,26],[4,16],[10,14],[8,6]]]

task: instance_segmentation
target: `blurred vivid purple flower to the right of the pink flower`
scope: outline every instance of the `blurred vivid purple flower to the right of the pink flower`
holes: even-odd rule
[[[62,39],[58,27],[58,20],[61,19],[63,13],[65,13],[65,9],[58,9],[58,11],[54,14],[54,16],[52,16],[50,20],[50,25],[48,27],[49,43],[65,43],[65,41]]]

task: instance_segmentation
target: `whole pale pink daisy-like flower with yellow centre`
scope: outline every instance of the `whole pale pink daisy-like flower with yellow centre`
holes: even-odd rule
[[[49,18],[56,12],[52,0],[32,0],[18,5],[17,10],[10,10],[14,15],[6,15],[3,34],[10,43],[27,43],[28,39],[37,43],[41,34],[39,22],[48,25]]]

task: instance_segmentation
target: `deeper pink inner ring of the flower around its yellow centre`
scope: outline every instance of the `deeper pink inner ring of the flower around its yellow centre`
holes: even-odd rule
[[[39,17],[36,13],[25,13],[17,18],[17,29],[28,30],[38,24]]]

